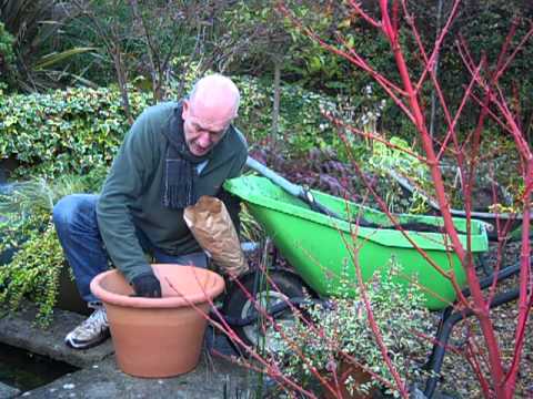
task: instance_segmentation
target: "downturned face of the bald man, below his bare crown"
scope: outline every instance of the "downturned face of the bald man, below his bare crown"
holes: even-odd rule
[[[189,151],[205,155],[224,136],[232,117],[227,112],[213,112],[201,104],[183,101],[183,131]]]

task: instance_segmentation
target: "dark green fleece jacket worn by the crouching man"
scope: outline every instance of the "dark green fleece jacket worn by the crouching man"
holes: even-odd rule
[[[168,208],[161,198],[168,144],[161,132],[169,129],[170,116],[179,106],[177,102],[161,103],[137,119],[98,201],[97,218],[103,243],[111,260],[129,282],[150,272],[135,228],[169,255],[201,250],[183,221],[183,209]],[[241,173],[247,154],[244,137],[230,126],[195,181],[199,196],[220,196],[222,183]]]

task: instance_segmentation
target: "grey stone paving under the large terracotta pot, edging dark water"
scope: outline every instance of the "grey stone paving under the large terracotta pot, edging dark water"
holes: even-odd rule
[[[204,354],[197,368],[184,375],[164,379],[145,379],[123,374],[115,364],[111,340],[87,350],[73,350],[63,344],[64,335],[84,316],[56,310],[51,327],[42,330],[33,325],[34,306],[27,305],[17,315],[0,319],[0,342],[17,346],[81,367],[51,383],[21,393],[22,398],[247,398],[252,386],[249,371],[220,357]],[[1,391],[0,398],[10,398]],[[225,393],[224,393],[225,392]],[[249,395],[250,393],[250,395]],[[10,393],[10,395],[17,395]]]

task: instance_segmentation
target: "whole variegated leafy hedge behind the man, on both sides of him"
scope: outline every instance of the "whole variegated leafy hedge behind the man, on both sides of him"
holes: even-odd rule
[[[271,130],[271,84],[248,76],[235,81],[242,92],[237,124],[251,144],[259,143]],[[133,116],[150,104],[150,94],[130,91]],[[283,88],[279,126],[288,153],[339,144],[334,130],[320,113],[321,108],[332,109],[333,103],[298,86]],[[117,89],[3,96],[0,160],[13,157],[21,163],[16,177],[86,174],[95,166],[110,164],[128,129]]]

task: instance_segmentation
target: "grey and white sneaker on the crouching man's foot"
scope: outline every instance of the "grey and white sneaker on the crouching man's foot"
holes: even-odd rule
[[[64,342],[74,349],[87,349],[103,342],[109,336],[108,314],[100,305],[94,306],[92,315],[64,337]]]

